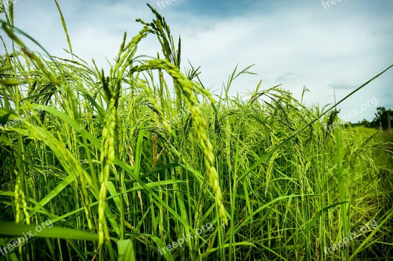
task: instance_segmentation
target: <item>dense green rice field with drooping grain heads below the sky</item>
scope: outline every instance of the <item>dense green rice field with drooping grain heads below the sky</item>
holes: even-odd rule
[[[306,107],[280,86],[229,96],[250,67],[210,95],[153,12],[105,74],[77,54],[29,51],[8,13],[0,259],[392,257],[392,135],[328,131],[334,106]],[[147,34],[162,45],[156,59],[135,55]]]

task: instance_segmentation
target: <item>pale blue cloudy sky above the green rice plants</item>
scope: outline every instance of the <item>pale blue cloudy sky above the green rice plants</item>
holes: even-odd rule
[[[52,55],[68,57],[54,0],[14,0],[15,26]],[[215,95],[236,65],[255,64],[231,85],[229,95],[247,98],[277,84],[307,106],[334,104],[393,64],[393,0],[58,0],[74,53],[108,68],[124,32],[136,35],[141,18],[156,8],[175,39],[181,37],[182,71],[201,67],[200,79]],[[334,4],[333,4],[334,3]],[[0,14],[0,18],[3,19]],[[0,30],[0,35],[7,38]],[[177,42],[177,40],[176,40]],[[7,43],[7,40],[6,40]],[[28,43],[30,49],[37,49]],[[38,50],[38,49],[37,49]],[[139,55],[156,56],[157,39],[139,44]],[[3,54],[3,47],[0,46]],[[108,74],[108,73],[107,73]],[[372,120],[376,107],[393,108],[393,68],[345,100],[339,117]]]

